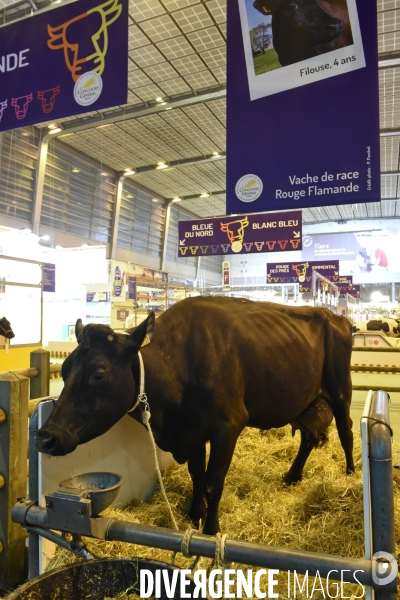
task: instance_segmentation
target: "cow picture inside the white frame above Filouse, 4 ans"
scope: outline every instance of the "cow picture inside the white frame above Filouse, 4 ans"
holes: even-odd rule
[[[353,44],[346,0],[245,0],[256,75]]]

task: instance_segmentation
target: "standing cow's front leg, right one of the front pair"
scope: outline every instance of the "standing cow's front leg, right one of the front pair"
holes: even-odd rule
[[[210,458],[205,477],[207,518],[203,533],[214,535],[219,531],[218,507],[224,489],[225,476],[231,464],[236,441],[243,427],[219,431],[211,439]]]

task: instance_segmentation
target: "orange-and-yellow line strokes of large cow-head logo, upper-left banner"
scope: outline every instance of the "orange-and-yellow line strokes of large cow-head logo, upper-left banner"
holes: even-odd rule
[[[51,50],[64,50],[64,60],[68,70],[71,72],[72,79],[76,82],[83,73],[94,71],[98,75],[102,75],[105,67],[105,57],[108,50],[108,32],[109,25],[114,23],[122,12],[122,5],[118,4],[119,0],[107,0],[103,4],[99,4],[88,11],[73,17],[69,21],[51,27],[47,25],[49,38],[47,45]],[[89,56],[79,58],[79,43],[71,44],[67,40],[67,28],[71,23],[85,19],[91,14],[98,12],[101,18],[101,26],[95,34],[91,36],[94,52]],[[89,66],[86,71],[83,71],[84,65]]]

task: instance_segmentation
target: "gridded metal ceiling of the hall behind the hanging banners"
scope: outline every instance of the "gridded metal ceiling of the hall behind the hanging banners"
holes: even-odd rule
[[[0,22],[53,4],[0,0]],[[224,214],[226,0],[130,0],[129,17],[128,103],[62,119],[59,137],[199,217]],[[378,0],[378,42],[383,202],[304,209],[305,223],[400,217],[400,0]]]

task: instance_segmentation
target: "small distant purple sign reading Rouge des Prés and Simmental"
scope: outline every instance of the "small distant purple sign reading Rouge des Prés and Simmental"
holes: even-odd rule
[[[300,292],[311,292],[312,272],[333,283],[339,280],[339,261],[303,261],[297,263],[267,263],[267,283],[298,283]]]

